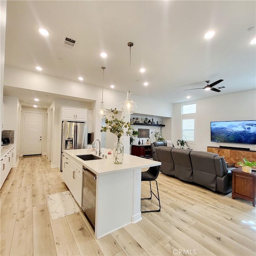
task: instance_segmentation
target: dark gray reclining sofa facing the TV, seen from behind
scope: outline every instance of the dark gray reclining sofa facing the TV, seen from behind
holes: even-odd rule
[[[167,146],[154,148],[161,172],[221,193],[232,191],[232,172],[218,154]]]

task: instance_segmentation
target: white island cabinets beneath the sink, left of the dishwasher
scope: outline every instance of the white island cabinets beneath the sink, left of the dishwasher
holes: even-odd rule
[[[62,177],[76,202],[82,206],[82,164],[76,162],[72,156],[63,153]]]

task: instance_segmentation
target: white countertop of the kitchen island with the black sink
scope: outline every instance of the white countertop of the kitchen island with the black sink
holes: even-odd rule
[[[102,150],[102,154],[107,155],[108,158],[84,161],[77,157],[77,155],[88,155],[88,154],[95,155],[96,152],[91,151],[90,148],[64,150],[64,152],[66,154],[69,154],[70,156],[73,156],[76,161],[79,161],[80,163],[82,163],[83,166],[92,170],[97,175],[106,175],[114,172],[149,168],[151,166],[161,165],[160,162],[149,160],[146,158],[141,158],[138,156],[132,156],[129,154],[124,154],[124,161],[122,164],[114,164],[113,151],[112,151],[112,154],[108,154],[108,149],[102,148],[101,150]]]

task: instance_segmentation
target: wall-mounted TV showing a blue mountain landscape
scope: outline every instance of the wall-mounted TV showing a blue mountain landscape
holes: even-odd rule
[[[256,120],[211,122],[211,141],[256,144]]]

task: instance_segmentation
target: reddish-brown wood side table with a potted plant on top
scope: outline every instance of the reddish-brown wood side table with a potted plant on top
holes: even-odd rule
[[[252,202],[255,207],[256,172],[242,172],[242,168],[232,170],[232,198],[240,197]]]

